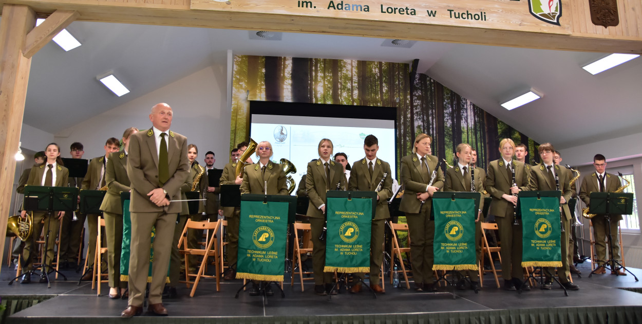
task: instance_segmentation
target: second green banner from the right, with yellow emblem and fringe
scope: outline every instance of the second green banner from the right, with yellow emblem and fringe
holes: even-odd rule
[[[478,270],[474,199],[433,199],[433,270]]]

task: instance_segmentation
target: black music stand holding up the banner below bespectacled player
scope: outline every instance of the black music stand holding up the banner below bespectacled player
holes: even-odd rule
[[[238,185],[222,185],[221,186],[221,194],[223,192],[223,186],[238,186]],[[240,198],[240,194],[239,194],[239,198]],[[263,201],[263,203],[268,203],[268,201],[269,201],[269,202],[273,202],[273,203],[288,203],[288,221],[287,221],[288,223],[286,224],[286,228],[287,228],[287,230],[286,230],[286,244],[285,244],[285,251],[284,251],[286,253],[286,255],[285,255],[285,263],[287,265],[288,261],[289,261],[288,260],[288,253],[287,253],[287,251],[288,251],[288,242],[287,242],[287,240],[288,240],[288,237],[290,237],[290,224],[292,224],[295,221],[296,214],[297,214],[297,197],[296,196],[292,196],[292,195],[244,194],[243,195],[243,201]],[[239,206],[241,206],[240,199],[239,199]],[[236,295],[234,296],[234,298],[238,298],[239,297],[239,293],[241,293],[241,291],[243,289],[245,289],[245,287],[248,284],[252,283],[252,282],[253,282],[253,280],[247,280],[247,282],[241,288],[239,288],[238,291],[236,291]],[[281,289],[281,285],[279,285],[277,282],[275,282],[275,281],[269,281],[269,282],[268,281],[261,281],[261,286],[260,286],[260,290],[259,291],[260,291],[261,294],[263,294],[263,305],[268,305],[267,288],[272,284],[274,284],[279,289],[279,291],[281,291],[281,298],[285,298],[285,293],[283,292],[283,289]]]

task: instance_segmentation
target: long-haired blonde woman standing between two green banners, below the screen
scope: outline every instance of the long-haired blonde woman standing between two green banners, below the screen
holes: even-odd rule
[[[343,167],[331,161],[333,144],[324,138],[319,142],[319,158],[308,163],[306,174],[306,191],[310,198],[308,212],[312,231],[312,266],[315,276],[315,293],[320,296],[336,294],[333,288],[333,273],[324,272],[325,240],[319,240],[325,227],[325,192],[327,190],[345,189]]]

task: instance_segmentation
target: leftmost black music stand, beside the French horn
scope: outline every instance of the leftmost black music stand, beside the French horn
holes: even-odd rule
[[[49,273],[55,272],[58,275],[61,275],[62,278],[67,281],[67,276],[60,273],[60,271],[54,269],[53,267],[47,264],[47,249],[49,245],[49,232],[51,232],[51,217],[54,216],[54,212],[57,210],[76,210],[76,202],[78,196],[78,188],[74,187],[56,187],[56,186],[25,186],[24,187],[24,210],[31,212],[47,212],[49,217],[47,219],[47,233],[44,237],[44,260],[42,264],[37,267],[33,267],[32,270],[27,273],[21,274],[13,278],[9,285],[13,284],[15,280],[20,278],[22,275],[35,275],[36,269],[41,269],[40,276],[44,275],[47,278],[47,288],[51,288],[51,280],[49,280]],[[31,239],[33,240],[33,246],[31,251],[35,249],[35,237],[40,235],[40,233],[32,233]],[[30,262],[32,261],[31,253],[28,256]]]

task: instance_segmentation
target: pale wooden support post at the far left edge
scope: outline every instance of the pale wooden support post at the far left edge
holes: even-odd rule
[[[24,57],[22,49],[35,21],[35,12],[28,6],[4,4],[0,22],[0,233],[6,231],[6,222],[12,212],[9,206],[15,174],[13,156],[20,141],[31,67],[31,58]],[[4,241],[2,235],[0,260],[4,260]]]

